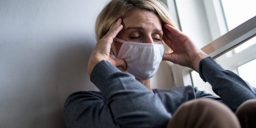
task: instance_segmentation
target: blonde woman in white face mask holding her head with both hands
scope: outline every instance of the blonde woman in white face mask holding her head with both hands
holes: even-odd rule
[[[100,92],[80,91],[67,98],[67,127],[255,127],[255,115],[246,112],[255,113],[256,89],[173,26],[157,0],[111,0],[97,18],[98,43],[88,62],[90,80]],[[164,53],[163,43],[171,54]],[[192,86],[151,90],[149,79],[162,59],[197,71],[221,98]]]

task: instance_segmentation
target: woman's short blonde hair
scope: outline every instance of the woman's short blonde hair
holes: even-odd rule
[[[133,9],[145,9],[154,12],[160,17],[162,23],[174,26],[167,11],[167,7],[159,0],[111,0],[96,19],[95,32],[97,41],[107,34],[111,25],[115,23],[118,18],[124,17]],[[172,52],[172,49],[166,44],[165,47],[166,53]]]

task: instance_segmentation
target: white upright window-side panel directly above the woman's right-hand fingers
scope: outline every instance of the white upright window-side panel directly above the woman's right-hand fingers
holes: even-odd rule
[[[212,41],[204,0],[176,0],[182,31],[202,48]]]

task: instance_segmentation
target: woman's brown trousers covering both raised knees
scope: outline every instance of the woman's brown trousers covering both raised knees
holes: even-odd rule
[[[191,100],[177,109],[166,128],[256,128],[256,99],[244,102],[236,115],[218,101]]]

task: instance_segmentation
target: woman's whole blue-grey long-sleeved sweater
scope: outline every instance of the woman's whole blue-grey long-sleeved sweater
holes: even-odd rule
[[[216,99],[233,111],[256,99],[255,88],[210,57],[200,61],[199,75],[221,98],[192,86],[154,89],[153,94],[131,74],[101,61],[90,76],[100,92],[71,94],[64,105],[65,123],[67,128],[165,128],[177,108],[191,99]]]

